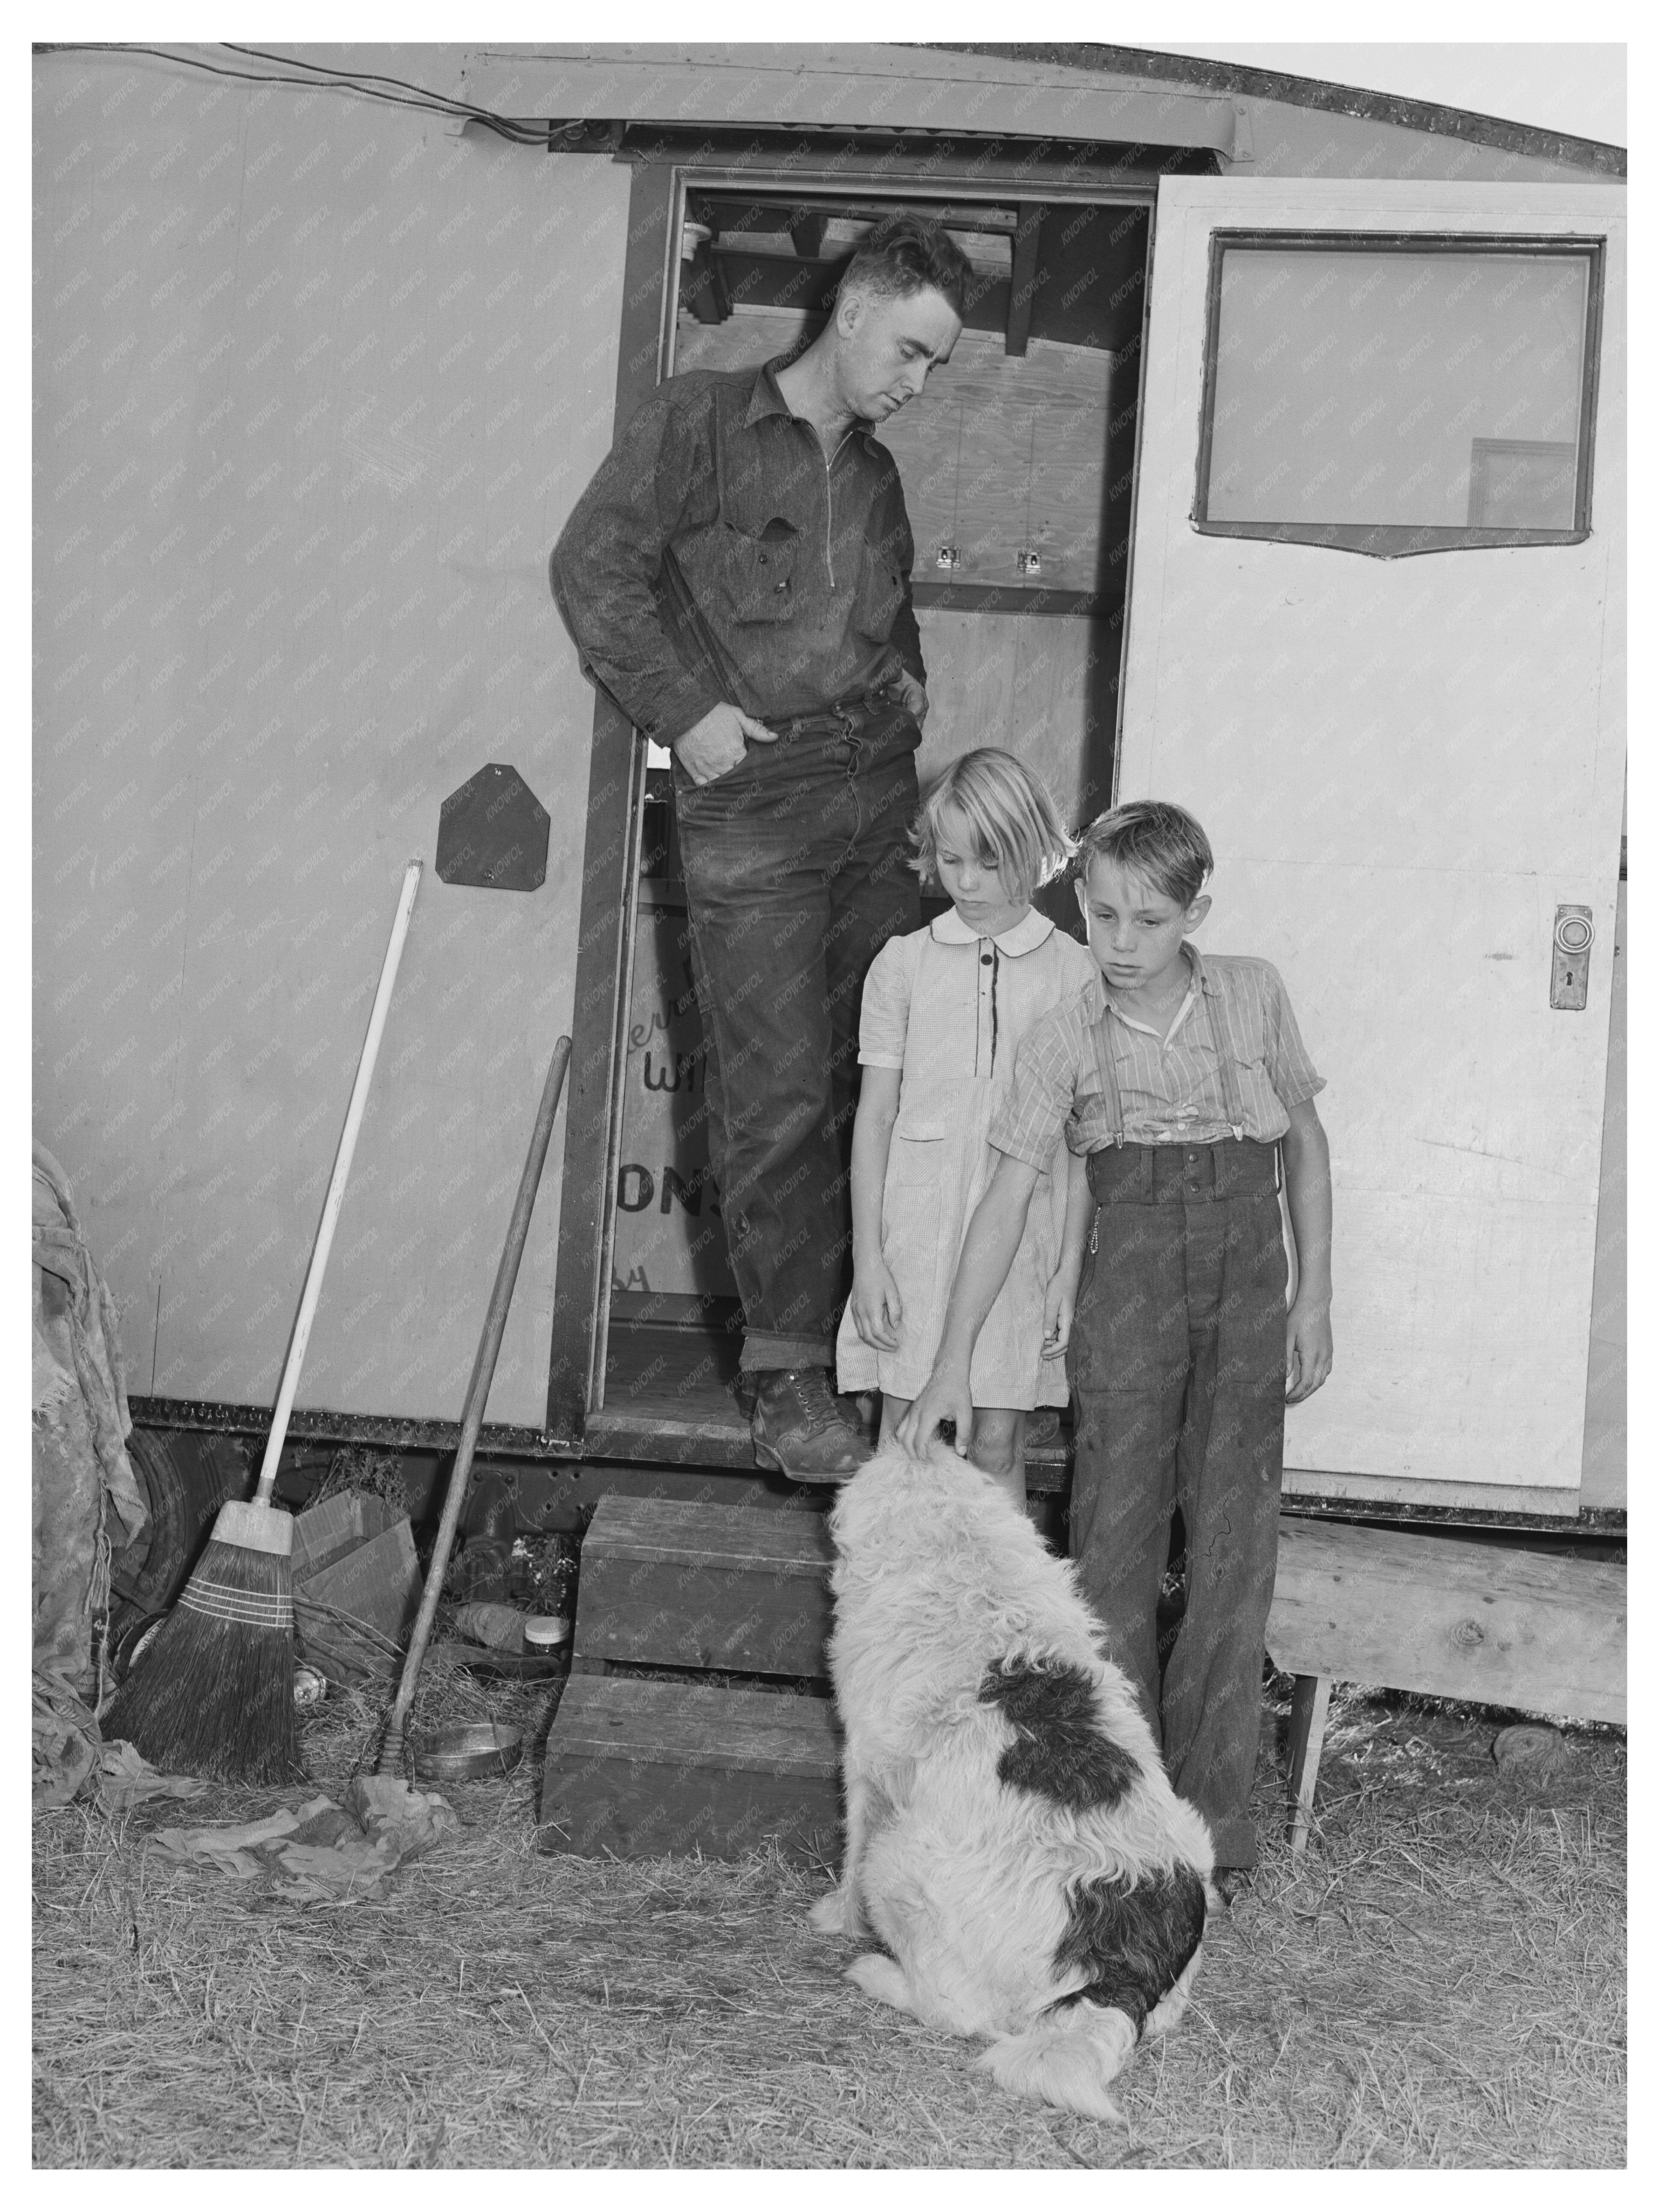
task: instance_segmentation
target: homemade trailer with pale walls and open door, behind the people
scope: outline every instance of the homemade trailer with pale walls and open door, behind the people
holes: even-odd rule
[[[1329,1079],[1287,1500],[1621,1524],[1624,155],[1018,53],[35,55],[35,1133],[142,1420],[263,1427],[422,854],[294,1433],[453,1440],[568,1031],[484,1447],[741,1502],[661,757],[546,555],[920,206],[975,270],[889,431],[922,770],[1190,805]]]

